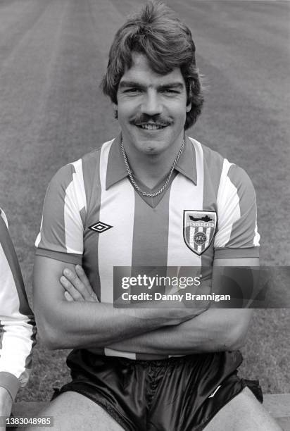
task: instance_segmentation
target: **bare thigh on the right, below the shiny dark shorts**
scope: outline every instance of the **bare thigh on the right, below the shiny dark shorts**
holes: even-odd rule
[[[205,431],[282,431],[247,387],[227,403]]]

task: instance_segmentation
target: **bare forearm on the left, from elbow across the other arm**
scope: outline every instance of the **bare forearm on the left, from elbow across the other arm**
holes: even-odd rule
[[[39,334],[51,349],[104,347],[151,332],[157,328],[177,325],[191,318],[177,313],[161,314],[156,308],[118,309],[111,304],[60,301],[55,308],[36,309]]]

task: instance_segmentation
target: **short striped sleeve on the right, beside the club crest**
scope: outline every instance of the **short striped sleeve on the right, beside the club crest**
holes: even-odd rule
[[[215,258],[258,257],[256,193],[246,172],[224,163],[217,193]]]

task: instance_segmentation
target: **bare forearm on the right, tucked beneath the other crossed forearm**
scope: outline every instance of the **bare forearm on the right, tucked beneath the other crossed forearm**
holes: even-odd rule
[[[180,325],[160,328],[108,347],[164,355],[235,350],[244,344],[250,316],[250,310],[210,308]]]

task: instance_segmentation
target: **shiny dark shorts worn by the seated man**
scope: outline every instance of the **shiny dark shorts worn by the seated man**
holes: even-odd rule
[[[104,408],[127,431],[197,431],[247,385],[260,401],[258,382],[237,376],[239,351],[156,361],[96,356],[85,349],[68,356],[78,392]]]

